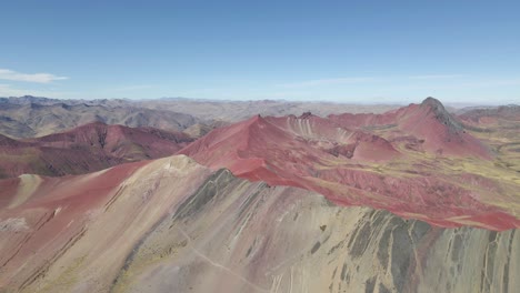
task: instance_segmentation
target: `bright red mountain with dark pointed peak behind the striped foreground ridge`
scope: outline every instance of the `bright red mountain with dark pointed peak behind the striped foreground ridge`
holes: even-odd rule
[[[433,99],[381,115],[254,117],[179,153],[248,180],[304,188],[338,204],[384,209],[434,225],[520,226],[514,211],[504,208],[518,186],[471,168],[453,171],[453,164],[488,166],[492,156]],[[467,184],[468,176],[486,184]]]

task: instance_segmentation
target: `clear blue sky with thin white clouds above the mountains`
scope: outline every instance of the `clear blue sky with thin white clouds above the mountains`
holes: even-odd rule
[[[520,1],[2,1],[0,97],[520,103]]]

